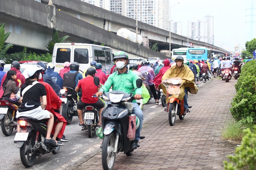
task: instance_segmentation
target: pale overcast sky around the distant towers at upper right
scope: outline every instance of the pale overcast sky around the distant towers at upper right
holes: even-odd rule
[[[256,0],[253,5],[253,37],[256,38]],[[187,36],[188,20],[204,21],[204,16],[213,16],[214,45],[228,51],[234,51],[238,44],[242,50],[245,42],[251,40],[248,36],[251,35],[251,6],[252,0],[170,0],[171,20],[182,22],[184,36]]]

